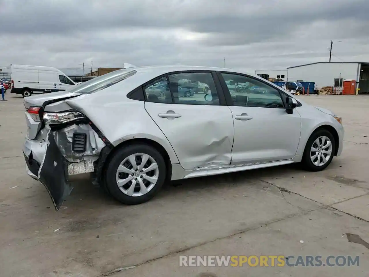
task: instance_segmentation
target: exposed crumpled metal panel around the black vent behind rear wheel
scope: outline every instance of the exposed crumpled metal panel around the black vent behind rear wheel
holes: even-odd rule
[[[86,134],[86,151],[76,152],[72,150],[74,133]],[[62,155],[69,162],[76,163],[86,160],[97,160],[101,149],[105,146],[105,143],[89,124],[73,124],[63,129],[52,131],[52,134]]]

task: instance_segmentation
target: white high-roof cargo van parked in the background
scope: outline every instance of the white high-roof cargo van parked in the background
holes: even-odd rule
[[[76,84],[63,72],[48,66],[11,65],[11,93],[23,97],[69,89]]]

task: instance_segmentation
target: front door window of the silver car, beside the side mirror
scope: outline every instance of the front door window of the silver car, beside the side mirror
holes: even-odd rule
[[[247,76],[231,73],[221,73],[221,75],[230,92],[233,106],[284,107],[276,88]]]

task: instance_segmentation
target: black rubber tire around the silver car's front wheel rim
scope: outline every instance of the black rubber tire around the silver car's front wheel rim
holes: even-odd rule
[[[332,154],[331,157],[329,158],[329,160],[327,161],[327,163],[325,163],[324,165],[321,166],[317,166],[315,165],[310,158],[310,149],[313,146],[314,141],[321,136],[326,136],[331,140],[332,143]],[[308,139],[306,146],[305,146],[305,150],[304,150],[304,155],[302,158],[302,164],[303,164],[303,168],[305,170],[308,171],[321,171],[324,170],[332,161],[335,150],[336,150],[336,144],[335,144],[335,140],[333,135],[331,134],[330,131],[326,130],[326,129],[320,129],[315,131],[313,134],[311,134],[310,138]]]

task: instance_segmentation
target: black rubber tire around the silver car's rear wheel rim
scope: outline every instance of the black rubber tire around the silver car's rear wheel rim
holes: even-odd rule
[[[117,181],[115,179],[116,172],[120,163],[129,155],[135,153],[143,153],[150,155],[152,158],[154,158],[154,160],[158,164],[159,169],[158,181],[156,182],[154,188],[152,188],[151,191],[141,196],[129,196],[127,194],[124,194],[118,188]],[[159,192],[160,188],[164,184],[165,178],[166,178],[166,165],[164,158],[155,148],[147,144],[132,144],[127,147],[119,149],[114,154],[113,158],[111,158],[105,173],[106,188],[108,192],[115,199],[126,205],[137,205],[152,199]]]

